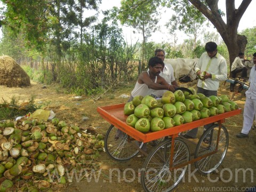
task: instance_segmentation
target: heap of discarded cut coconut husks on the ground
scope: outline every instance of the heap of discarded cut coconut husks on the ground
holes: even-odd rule
[[[69,174],[93,164],[102,139],[58,118],[0,122],[0,191],[14,191],[16,181],[21,191],[65,187]]]

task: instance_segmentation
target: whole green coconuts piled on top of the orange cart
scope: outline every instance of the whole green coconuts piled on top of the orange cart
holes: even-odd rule
[[[124,106],[124,114],[129,115],[126,123],[142,133],[155,132],[238,108],[227,95],[205,97],[202,93],[196,94],[194,88],[189,90],[193,94],[166,91],[157,100],[150,95],[134,97]]]

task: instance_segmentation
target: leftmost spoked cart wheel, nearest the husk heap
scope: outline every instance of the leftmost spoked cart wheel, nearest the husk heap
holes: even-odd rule
[[[142,148],[143,143],[138,142],[131,138],[124,132],[121,133],[121,137],[116,138],[117,128],[114,125],[110,125],[104,140],[104,147],[109,157],[116,161],[128,161],[139,153],[139,150],[134,147],[133,144]]]

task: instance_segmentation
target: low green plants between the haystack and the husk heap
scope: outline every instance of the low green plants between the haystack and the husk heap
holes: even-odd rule
[[[26,106],[20,107],[18,103],[19,98],[15,96],[11,98],[10,102],[4,101],[0,103],[0,121],[4,119],[14,119],[17,116],[25,116],[29,112],[33,113],[37,109],[34,96],[31,96]]]

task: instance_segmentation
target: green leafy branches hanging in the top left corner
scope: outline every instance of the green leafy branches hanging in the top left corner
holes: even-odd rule
[[[17,36],[22,31],[27,47],[43,50],[49,30],[49,1],[2,0],[6,5],[3,25]]]

